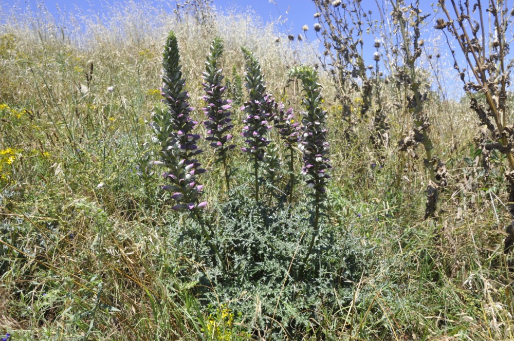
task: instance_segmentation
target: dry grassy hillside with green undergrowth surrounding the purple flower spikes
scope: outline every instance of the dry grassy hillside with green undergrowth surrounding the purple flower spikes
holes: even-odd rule
[[[276,43],[274,28],[252,13],[218,12],[209,25],[165,13],[131,3],[107,9],[101,22],[76,13],[66,28],[44,10],[2,23],[0,333],[16,340],[514,338],[511,258],[502,249],[510,223],[505,157],[493,152],[486,174],[473,112],[435,94],[426,112],[434,154],[449,173],[440,223],[423,219],[423,160],[397,153],[396,142],[378,155],[365,119],[348,143],[336,90],[320,71],[333,171],[315,261],[301,263],[313,236],[304,184],[281,207],[274,194],[289,179],[285,167],[283,183],[262,186],[267,204],[257,205],[246,156],[233,153],[225,192],[205,144],[205,216],[233,268],[216,266],[198,224],[172,212],[161,179],[146,172],[164,37],[170,28],[177,33],[198,121],[215,35],[224,40],[227,79],[244,77],[246,46],[259,56],[268,90],[298,113],[299,84],[287,69],[315,64],[317,49],[285,36]],[[412,123],[393,105],[394,89],[386,90],[391,141],[399,141]],[[234,131],[242,118],[234,110]],[[300,154],[295,162],[300,169]]]

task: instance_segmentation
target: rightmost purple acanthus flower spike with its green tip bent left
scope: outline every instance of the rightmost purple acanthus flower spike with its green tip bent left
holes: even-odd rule
[[[321,107],[321,85],[318,83],[318,73],[308,66],[299,66],[289,70],[291,78],[298,78],[303,85],[305,98],[302,103],[305,111],[302,112],[302,136],[300,149],[303,151],[302,174],[306,176],[307,187],[314,193],[313,224],[314,234],[310,241],[306,259],[313,249],[315,238],[319,231],[319,219],[321,209],[324,208],[326,199],[326,181],[330,178],[327,174],[332,167],[328,159],[328,141],[326,140],[327,112]]]

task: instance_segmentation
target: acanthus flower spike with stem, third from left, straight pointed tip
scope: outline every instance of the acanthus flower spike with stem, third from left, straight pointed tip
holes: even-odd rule
[[[264,148],[269,144],[266,135],[271,130],[273,119],[274,99],[266,93],[261,64],[252,52],[241,48],[246,59],[246,89],[249,92],[249,100],[241,109],[246,113],[243,120],[245,126],[241,135],[246,138],[248,147],[241,150],[247,153],[253,161],[255,201],[259,201],[259,166],[264,158]]]

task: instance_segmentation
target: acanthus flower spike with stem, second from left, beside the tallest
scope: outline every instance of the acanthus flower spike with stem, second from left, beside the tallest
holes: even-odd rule
[[[223,94],[227,89],[221,84],[224,76],[222,69],[219,68],[218,60],[223,53],[223,41],[215,38],[210,48],[210,54],[207,56],[206,71],[203,72],[204,90],[206,92],[203,100],[207,103],[203,108],[207,121],[204,125],[207,129],[206,140],[210,141],[210,146],[215,148],[218,154],[219,162],[223,163],[225,181],[227,190],[230,190],[229,170],[228,170],[228,151],[235,147],[230,144],[232,135],[228,134],[234,126],[230,119],[231,100],[223,99]]]

